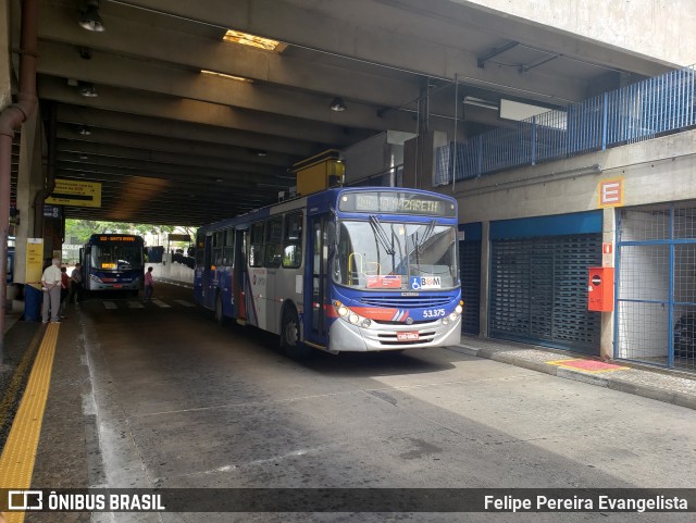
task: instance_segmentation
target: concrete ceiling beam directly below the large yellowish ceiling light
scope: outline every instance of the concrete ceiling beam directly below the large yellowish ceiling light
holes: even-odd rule
[[[229,9],[229,3],[225,10]],[[374,72],[308,62],[247,46],[196,36],[142,23],[141,10],[127,10],[132,16],[110,15],[114,5],[101,10],[108,34],[86,32],[76,24],[77,9],[42,4],[39,10],[39,37],[75,46],[101,49],[115,54],[141,57],[148,61],[176,63],[194,71],[206,69],[298,89],[311,89],[326,96],[340,96],[385,107],[400,105],[418,98],[418,82],[403,82]],[[121,9],[123,11],[123,9]],[[221,32],[221,34],[224,32]],[[408,78],[408,75],[405,75]]]

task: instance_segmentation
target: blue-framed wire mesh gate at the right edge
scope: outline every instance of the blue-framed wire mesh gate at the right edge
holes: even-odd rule
[[[696,203],[618,217],[616,357],[696,371]]]

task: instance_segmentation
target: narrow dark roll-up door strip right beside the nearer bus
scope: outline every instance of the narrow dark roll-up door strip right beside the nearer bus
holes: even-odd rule
[[[478,307],[481,299],[481,223],[468,223],[459,226],[464,239],[459,242],[459,271],[461,273],[461,299],[464,312],[461,317],[461,332],[478,334]]]

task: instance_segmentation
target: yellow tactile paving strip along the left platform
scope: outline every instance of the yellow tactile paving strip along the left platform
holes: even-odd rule
[[[50,323],[39,347],[22,403],[12,423],[0,458],[0,488],[27,489],[41,433],[60,324]],[[8,523],[22,523],[24,512],[5,513]],[[2,521],[2,520],[0,520]]]

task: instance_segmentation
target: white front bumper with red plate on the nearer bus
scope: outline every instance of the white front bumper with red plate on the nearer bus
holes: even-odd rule
[[[328,331],[328,350],[368,352],[425,349],[459,345],[460,339],[461,316],[447,325],[442,320],[418,325],[381,325],[372,322],[368,328],[339,319]]]

